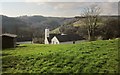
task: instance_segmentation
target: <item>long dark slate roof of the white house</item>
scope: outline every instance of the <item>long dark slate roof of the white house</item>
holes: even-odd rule
[[[51,42],[51,39],[56,36],[57,39],[60,42],[67,42],[67,41],[77,41],[77,40],[83,40],[84,38],[82,36],[79,36],[77,34],[67,34],[67,35],[61,35],[61,34],[50,34],[48,37],[48,41]]]

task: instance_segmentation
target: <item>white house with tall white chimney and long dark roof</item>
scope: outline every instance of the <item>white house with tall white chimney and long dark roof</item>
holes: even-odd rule
[[[84,38],[77,34],[49,34],[49,29],[45,29],[45,44],[74,44],[80,40]]]

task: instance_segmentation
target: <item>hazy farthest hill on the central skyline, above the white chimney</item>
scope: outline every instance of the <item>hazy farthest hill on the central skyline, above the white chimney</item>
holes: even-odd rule
[[[26,22],[28,25],[32,25],[34,27],[40,27],[42,29],[50,28],[54,29],[60,25],[62,25],[66,20],[71,18],[59,18],[59,17],[44,17],[44,16],[21,16],[18,19]]]

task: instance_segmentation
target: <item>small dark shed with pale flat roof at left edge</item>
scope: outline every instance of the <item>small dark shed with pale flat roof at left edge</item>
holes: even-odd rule
[[[14,34],[2,34],[2,49],[16,47],[16,37]]]

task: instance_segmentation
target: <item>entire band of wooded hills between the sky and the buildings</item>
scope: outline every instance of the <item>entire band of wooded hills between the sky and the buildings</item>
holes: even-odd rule
[[[85,17],[75,16],[65,18],[44,17],[40,15],[20,17],[0,15],[0,17],[2,17],[2,32],[16,34],[19,38],[42,38],[43,41],[45,28],[49,28],[51,33],[72,33],[80,34],[85,37],[87,36],[87,32],[83,27],[84,23],[82,21]],[[103,33],[102,35],[109,36],[106,38],[110,38],[110,36],[113,35],[113,32],[115,32],[115,34],[118,34],[119,32],[118,30],[120,26],[118,24],[118,16],[100,16],[98,24],[100,27],[97,31],[105,32],[104,35]],[[100,33],[101,35],[101,32],[97,32],[96,34]]]

